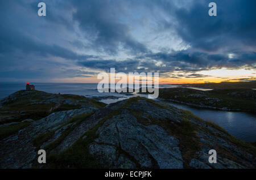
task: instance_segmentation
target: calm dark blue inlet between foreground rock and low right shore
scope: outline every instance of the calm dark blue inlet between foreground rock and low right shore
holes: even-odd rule
[[[194,108],[174,102],[168,102],[168,104],[189,110],[205,121],[214,122],[238,139],[246,142],[256,142],[256,114]]]

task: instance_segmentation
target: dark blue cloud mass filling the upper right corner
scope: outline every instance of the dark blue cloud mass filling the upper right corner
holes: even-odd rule
[[[183,40],[208,52],[255,48],[256,1],[214,1],[217,16],[208,15],[209,2],[195,1],[188,9],[176,10],[176,30]]]

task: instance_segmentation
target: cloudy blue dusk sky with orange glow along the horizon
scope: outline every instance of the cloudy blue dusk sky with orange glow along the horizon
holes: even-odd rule
[[[46,16],[38,16],[38,3]],[[217,16],[209,16],[210,2]],[[0,82],[256,80],[255,0],[0,0]]]

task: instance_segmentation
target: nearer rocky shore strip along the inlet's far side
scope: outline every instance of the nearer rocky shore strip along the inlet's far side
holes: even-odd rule
[[[256,113],[256,91],[252,89],[162,88],[159,98],[199,108]]]

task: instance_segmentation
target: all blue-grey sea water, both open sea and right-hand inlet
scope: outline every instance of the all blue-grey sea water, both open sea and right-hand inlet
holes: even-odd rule
[[[82,83],[31,83],[35,85],[35,88],[39,91],[45,91],[49,93],[69,93],[74,95],[81,95],[86,97],[93,96],[115,96],[116,98],[106,98],[101,100],[106,104],[124,100],[125,98],[138,96],[125,96],[117,93],[99,93],[97,91],[97,84],[82,84]],[[11,93],[25,89],[25,83],[0,83],[0,99],[4,98]],[[176,87],[175,85],[160,84],[160,88],[164,87]],[[198,88],[197,88],[198,89]],[[205,89],[201,89],[205,90]],[[180,109],[190,110],[198,117],[217,123],[230,134],[238,139],[245,140],[247,142],[256,142],[256,114],[245,112],[226,112],[222,110],[211,110],[194,108],[187,105],[176,104],[168,102],[171,105]]]

